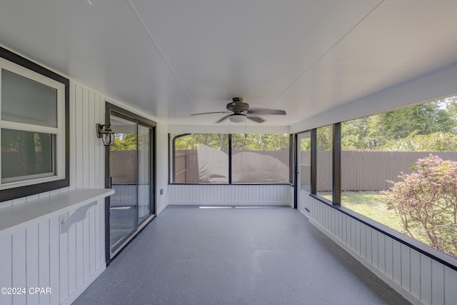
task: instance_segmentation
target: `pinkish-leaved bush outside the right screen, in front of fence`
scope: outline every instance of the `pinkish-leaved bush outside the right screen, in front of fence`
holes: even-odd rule
[[[408,235],[457,257],[457,162],[431,154],[411,169],[381,191],[383,200],[401,217]]]

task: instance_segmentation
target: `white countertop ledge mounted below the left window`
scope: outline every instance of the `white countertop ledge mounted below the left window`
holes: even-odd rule
[[[0,234],[38,224],[44,219],[51,219],[112,194],[114,189],[74,189],[0,209]]]

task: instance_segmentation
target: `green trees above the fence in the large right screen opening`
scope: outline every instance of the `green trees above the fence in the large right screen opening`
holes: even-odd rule
[[[346,121],[341,134],[346,151],[456,151],[457,96]]]

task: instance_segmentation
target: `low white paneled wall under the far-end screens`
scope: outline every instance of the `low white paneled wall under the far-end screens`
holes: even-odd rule
[[[288,184],[169,184],[169,204],[293,206],[293,186]]]

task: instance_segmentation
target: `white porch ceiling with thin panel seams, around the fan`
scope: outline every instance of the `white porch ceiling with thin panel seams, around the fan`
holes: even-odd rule
[[[0,0],[0,44],[169,124],[241,96],[290,126],[457,63],[456,0],[92,3]]]

